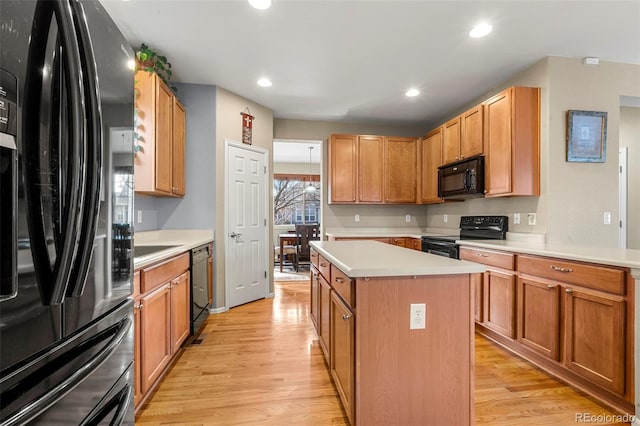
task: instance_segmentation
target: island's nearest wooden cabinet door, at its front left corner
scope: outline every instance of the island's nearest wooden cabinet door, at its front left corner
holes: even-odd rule
[[[331,295],[331,377],[349,422],[354,424],[355,318],[337,292]]]

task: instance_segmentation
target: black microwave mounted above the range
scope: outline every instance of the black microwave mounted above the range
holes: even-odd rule
[[[484,196],[484,157],[478,156],[438,167],[438,197]]]

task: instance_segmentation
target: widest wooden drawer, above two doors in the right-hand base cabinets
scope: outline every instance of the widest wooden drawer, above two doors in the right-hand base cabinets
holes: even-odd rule
[[[625,274],[620,269],[520,255],[518,272],[614,294],[625,293]]]

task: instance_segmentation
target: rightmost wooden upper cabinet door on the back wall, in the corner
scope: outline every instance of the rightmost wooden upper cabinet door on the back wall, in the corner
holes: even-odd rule
[[[384,201],[415,204],[417,201],[418,141],[384,138]]]

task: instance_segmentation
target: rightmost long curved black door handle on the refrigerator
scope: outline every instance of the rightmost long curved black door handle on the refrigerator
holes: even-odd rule
[[[84,292],[84,284],[91,264],[93,242],[96,235],[100,208],[100,189],[102,185],[102,112],[100,110],[100,89],[97,79],[95,54],[85,20],[85,13],[79,2],[71,3],[74,18],[74,32],[80,48],[80,64],[84,81],[85,116],[87,133],[84,138],[86,152],[86,179],[81,191],[82,213],[79,233],[76,234],[78,251],[71,270],[71,280],[66,295],[79,297]]]

